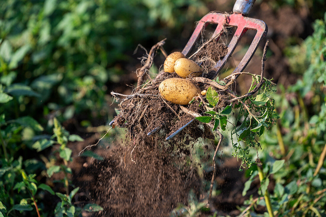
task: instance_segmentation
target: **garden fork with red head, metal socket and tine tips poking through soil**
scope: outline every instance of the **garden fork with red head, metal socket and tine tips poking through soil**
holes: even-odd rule
[[[187,56],[187,54],[191,51],[193,46],[195,45],[197,39],[199,38],[202,31],[208,24],[217,24],[217,27],[212,35],[215,37],[215,40],[219,40],[220,35],[225,30],[225,27],[237,27],[227,49],[227,54],[224,56],[222,60],[219,60],[216,65],[213,67],[214,73],[209,73],[207,78],[214,79],[218,73],[222,70],[225,63],[228,61],[230,56],[232,55],[235,47],[239,43],[241,37],[247,32],[247,30],[256,30],[256,35],[251,42],[249,49],[245,53],[244,57],[242,58],[239,65],[234,69],[233,73],[243,72],[244,68],[248,65],[249,61],[251,60],[252,56],[254,55],[255,51],[257,50],[260,41],[266,36],[267,34],[267,25],[265,22],[247,17],[253,4],[256,0],[236,0],[233,6],[233,13],[232,14],[225,14],[220,12],[210,12],[206,14],[203,18],[200,19],[198,22],[194,32],[192,33],[189,41],[185,45],[182,53]],[[237,76],[236,76],[237,77]],[[166,138],[166,140],[171,139],[175,135],[177,135],[180,131],[182,131],[186,126],[188,126],[191,122],[186,123],[172,135]],[[110,123],[110,125],[113,121]],[[159,127],[156,127],[154,130],[150,131],[147,135],[150,136],[154,132],[156,132]]]

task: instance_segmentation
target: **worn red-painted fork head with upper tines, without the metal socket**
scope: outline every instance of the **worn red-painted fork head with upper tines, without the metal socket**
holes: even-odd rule
[[[243,59],[239,63],[239,65],[234,69],[233,73],[235,72],[242,72],[244,68],[248,65],[249,61],[251,60],[252,56],[254,55],[255,51],[258,48],[259,42],[263,39],[267,34],[267,25],[265,22],[250,18],[244,17],[242,14],[223,14],[218,12],[211,12],[206,14],[201,20],[198,22],[194,32],[192,33],[189,41],[185,45],[182,53],[186,56],[192,47],[195,45],[196,40],[200,36],[202,30],[210,23],[217,24],[217,27],[213,33],[212,37],[216,36],[216,40],[219,39],[220,34],[223,32],[224,26],[236,26],[237,30],[235,31],[229,45],[228,51],[225,57],[222,60],[219,60],[216,65],[214,66],[214,71],[216,73],[210,73],[209,79],[214,79],[216,75],[221,71],[223,66],[225,65],[226,61],[232,55],[235,47],[237,46],[240,38],[246,33],[248,29],[257,30],[257,33],[251,42],[251,45],[244,55]]]

